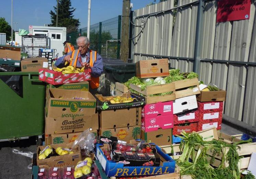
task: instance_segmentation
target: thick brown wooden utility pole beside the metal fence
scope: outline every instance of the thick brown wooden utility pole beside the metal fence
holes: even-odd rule
[[[130,24],[130,0],[123,0],[122,33],[121,33],[121,60],[127,61],[129,56],[129,24]],[[119,39],[118,39],[119,40]]]

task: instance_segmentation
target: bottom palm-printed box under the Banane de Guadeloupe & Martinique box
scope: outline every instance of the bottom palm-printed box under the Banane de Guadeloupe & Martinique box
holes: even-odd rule
[[[91,130],[91,133],[98,136],[97,130]],[[73,143],[77,137],[79,137],[82,132],[79,133],[65,133],[65,134],[51,134],[49,135],[49,144],[58,144],[58,143]],[[48,145],[49,145],[48,144]]]

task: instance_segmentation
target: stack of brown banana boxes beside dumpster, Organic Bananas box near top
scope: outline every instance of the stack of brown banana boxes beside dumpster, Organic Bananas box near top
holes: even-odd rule
[[[46,144],[73,143],[86,129],[97,136],[96,99],[88,82],[48,85],[45,106]]]

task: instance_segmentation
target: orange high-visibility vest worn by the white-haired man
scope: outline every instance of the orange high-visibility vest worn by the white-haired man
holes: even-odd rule
[[[71,66],[76,66],[77,59],[78,59],[79,50],[74,50],[72,52],[72,61],[70,61]],[[90,66],[93,67],[94,62],[97,60],[97,52],[90,50]],[[91,80],[89,81],[89,85],[92,89],[99,87],[99,77],[91,77]]]

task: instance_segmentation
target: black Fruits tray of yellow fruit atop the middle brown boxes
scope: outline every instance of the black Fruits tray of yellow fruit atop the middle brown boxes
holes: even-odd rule
[[[96,95],[97,110],[113,110],[138,107],[145,104],[145,98],[135,93],[123,93],[121,96]]]

